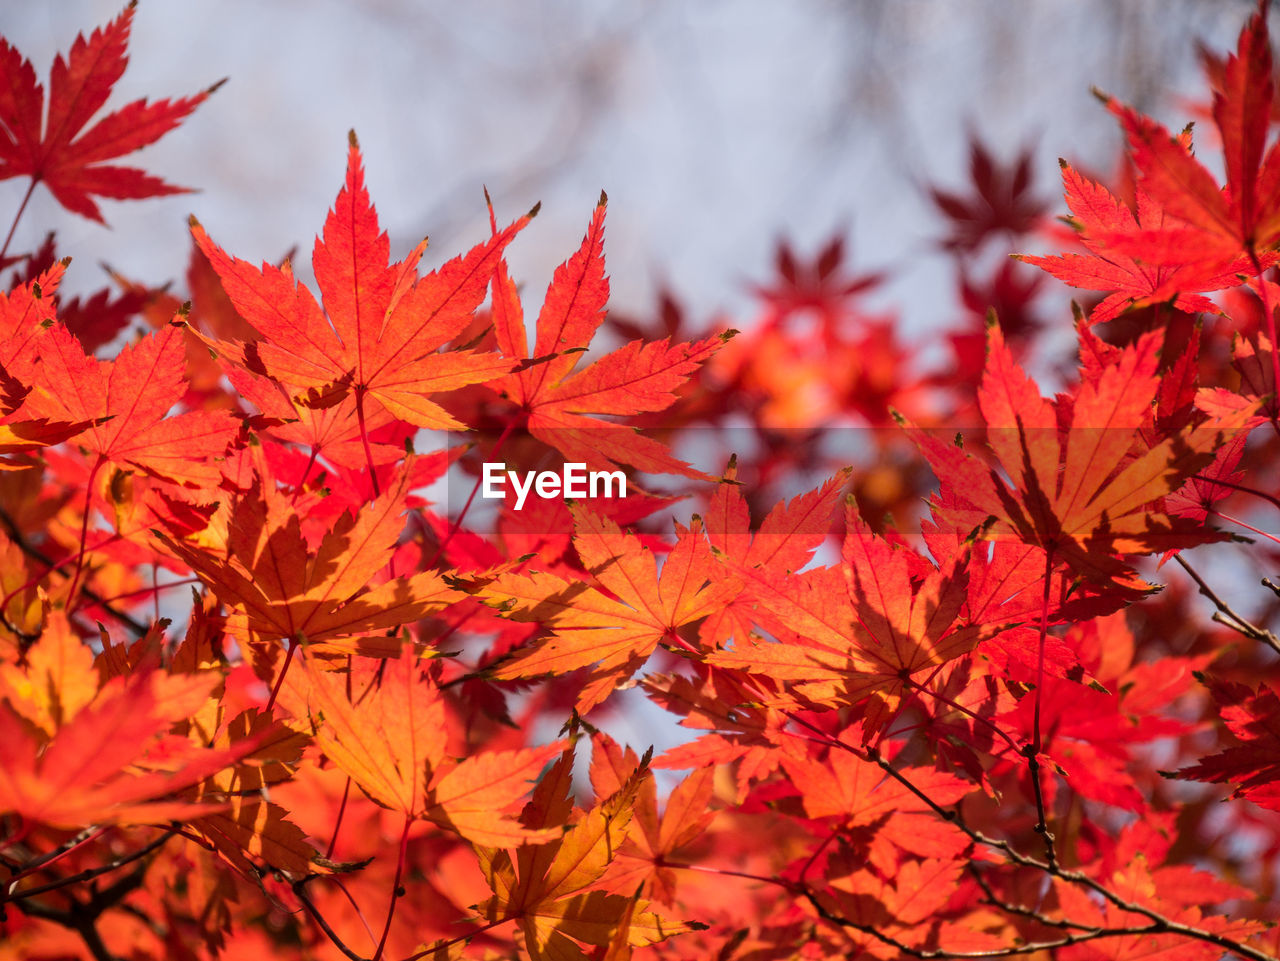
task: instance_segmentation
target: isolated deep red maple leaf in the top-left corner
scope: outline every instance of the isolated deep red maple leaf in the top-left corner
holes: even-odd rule
[[[90,220],[102,221],[93,197],[133,200],[186,193],[132,166],[104,161],[154,143],[182,120],[218,86],[178,100],[136,100],[102,116],[88,129],[111,88],[124,73],[133,26],[131,3],[105,27],[84,38],[78,35],[67,59],[59,54],[49,75],[49,101],[36,83],[36,72],[0,37],[0,180],[29,177],[32,188],[44,183],[58,202]]]

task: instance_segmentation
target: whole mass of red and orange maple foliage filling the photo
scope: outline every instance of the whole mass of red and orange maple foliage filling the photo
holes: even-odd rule
[[[315,289],[195,220],[184,294],[14,252],[0,960],[1274,961],[1267,13],[1199,54],[1225,186],[1103,96],[1062,230],[974,139],[933,367],[840,238],[742,334],[611,316],[603,193],[526,324],[536,209],[393,260],[355,134]],[[93,120],[132,17],[47,93],[0,38],[0,178],[177,189],[106,161],[207,92]],[[625,743],[639,703],[686,737]]]

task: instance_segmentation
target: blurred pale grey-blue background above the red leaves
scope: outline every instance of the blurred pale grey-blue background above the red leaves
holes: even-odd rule
[[[105,229],[37,191],[14,248],[35,247],[51,224],[76,257],[69,289],[100,287],[99,261],[160,284],[183,274],[195,212],[248,260],[300,247],[306,276],[355,128],[393,257],[430,235],[434,266],[483,239],[483,186],[499,218],[543,201],[511,251],[536,303],[603,188],[616,311],[652,315],[668,288],[695,330],[716,315],[742,328],[755,310],[749,284],[772,274],[780,238],[813,256],[841,234],[854,270],[888,271],[873,303],[925,331],[951,320],[955,297],[925,187],[963,192],[970,136],[1006,164],[1029,148],[1032,193],[1061,212],[1056,157],[1115,169],[1116,124],[1089,87],[1181,125],[1180,95],[1201,90],[1194,41],[1228,47],[1251,6],[145,0],[110,106],[229,77],[137,156],[200,192],[106,201]],[[6,3],[0,32],[44,81],[77,32],[120,9]],[[0,183],[0,220],[24,188]],[[1069,315],[1055,316],[1069,331]]]

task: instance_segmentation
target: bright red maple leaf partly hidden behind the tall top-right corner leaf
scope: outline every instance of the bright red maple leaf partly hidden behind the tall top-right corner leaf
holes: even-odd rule
[[[1094,324],[1111,320],[1130,307],[1152,303],[1171,303],[1188,314],[1222,312],[1212,301],[1193,292],[1221,290],[1244,283],[1243,271],[1249,267],[1248,257],[1217,264],[1206,261],[1161,266],[1143,264],[1123,250],[1114,250],[1107,243],[1107,237],[1158,229],[1164,225],[1165,211],[1151,200],[1146,189],[1139,188],[1135,216],[1102,184],[1082,177],[1065,160],[1059,160],[1059,164],[1062,168],[1066,205],[1071,210],[1069,223],[1080,232],[1080,242],[1089,252],[1064,253],[1059,257],[1015,255],[1016,260],[1043,267],[1071,287],[1110,290],[1089,315]]]

